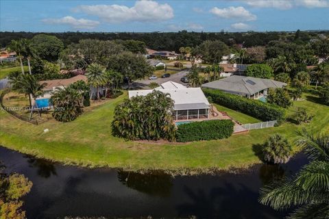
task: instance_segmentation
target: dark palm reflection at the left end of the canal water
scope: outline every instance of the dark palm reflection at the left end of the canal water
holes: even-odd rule
[[[29,163],[29,167],[36,168],[38,175],[43,178],[49,178],[51,175],[57,175],[56,168],[53,163],[45,160],[45,159],[37,159],[30,155],[24,155],[27,158],[27,162]]]

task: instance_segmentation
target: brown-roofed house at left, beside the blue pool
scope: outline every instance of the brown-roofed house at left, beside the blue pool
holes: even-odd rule
[[[45,88],[43,88],[44,93],[41,96],[38,96],[38,99],[50,98],[51,94],[56,90],[56,88],[64,88],[66,86],[69,86],[71,83],[75,83],[77,81],[87,82],[87,77],[84,75],[77,75],[77,76],[71,77],[69,79],[39,81],[40,84],[46,83],[46,86],[45,86]]]

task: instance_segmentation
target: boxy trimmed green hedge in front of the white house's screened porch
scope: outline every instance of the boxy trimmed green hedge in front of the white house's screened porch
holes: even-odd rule
[[[176,139],[178,142],[192,142],[228,138],[233,133],[233,127],[232,120],[206,120],[186,123],[178,126]]]

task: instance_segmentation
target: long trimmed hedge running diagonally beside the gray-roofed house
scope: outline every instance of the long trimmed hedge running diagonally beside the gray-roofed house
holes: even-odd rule
[[[286,118],[286,111],[282,107],[254,99],[247,99],[243,96],[228,94],[220,90],[209,88],[203,88],[202,90],[208,98],[212,99],[213,103],[243,112],[254,118],[263,121],[277,120],[278,123],[281,123]]]

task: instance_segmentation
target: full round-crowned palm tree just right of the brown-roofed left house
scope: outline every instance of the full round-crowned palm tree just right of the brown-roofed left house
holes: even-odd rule
[[[99,86],[103,86],[105,84],[105,72],[106,68],[99,64],[90,64],[87,67],[86,77],[88,84],[95,87],[97,89],[97,99],[99,99]]]

